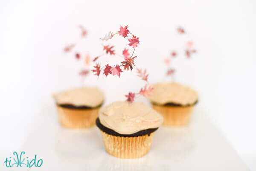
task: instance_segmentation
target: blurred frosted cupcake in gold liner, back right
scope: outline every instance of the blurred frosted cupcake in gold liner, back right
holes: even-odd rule
[[[153,85],[148,97],[152,107],[163,115],[163,125],[186,125],[189,123],[194,105],[198,101],[195,90],[175,82]]]

